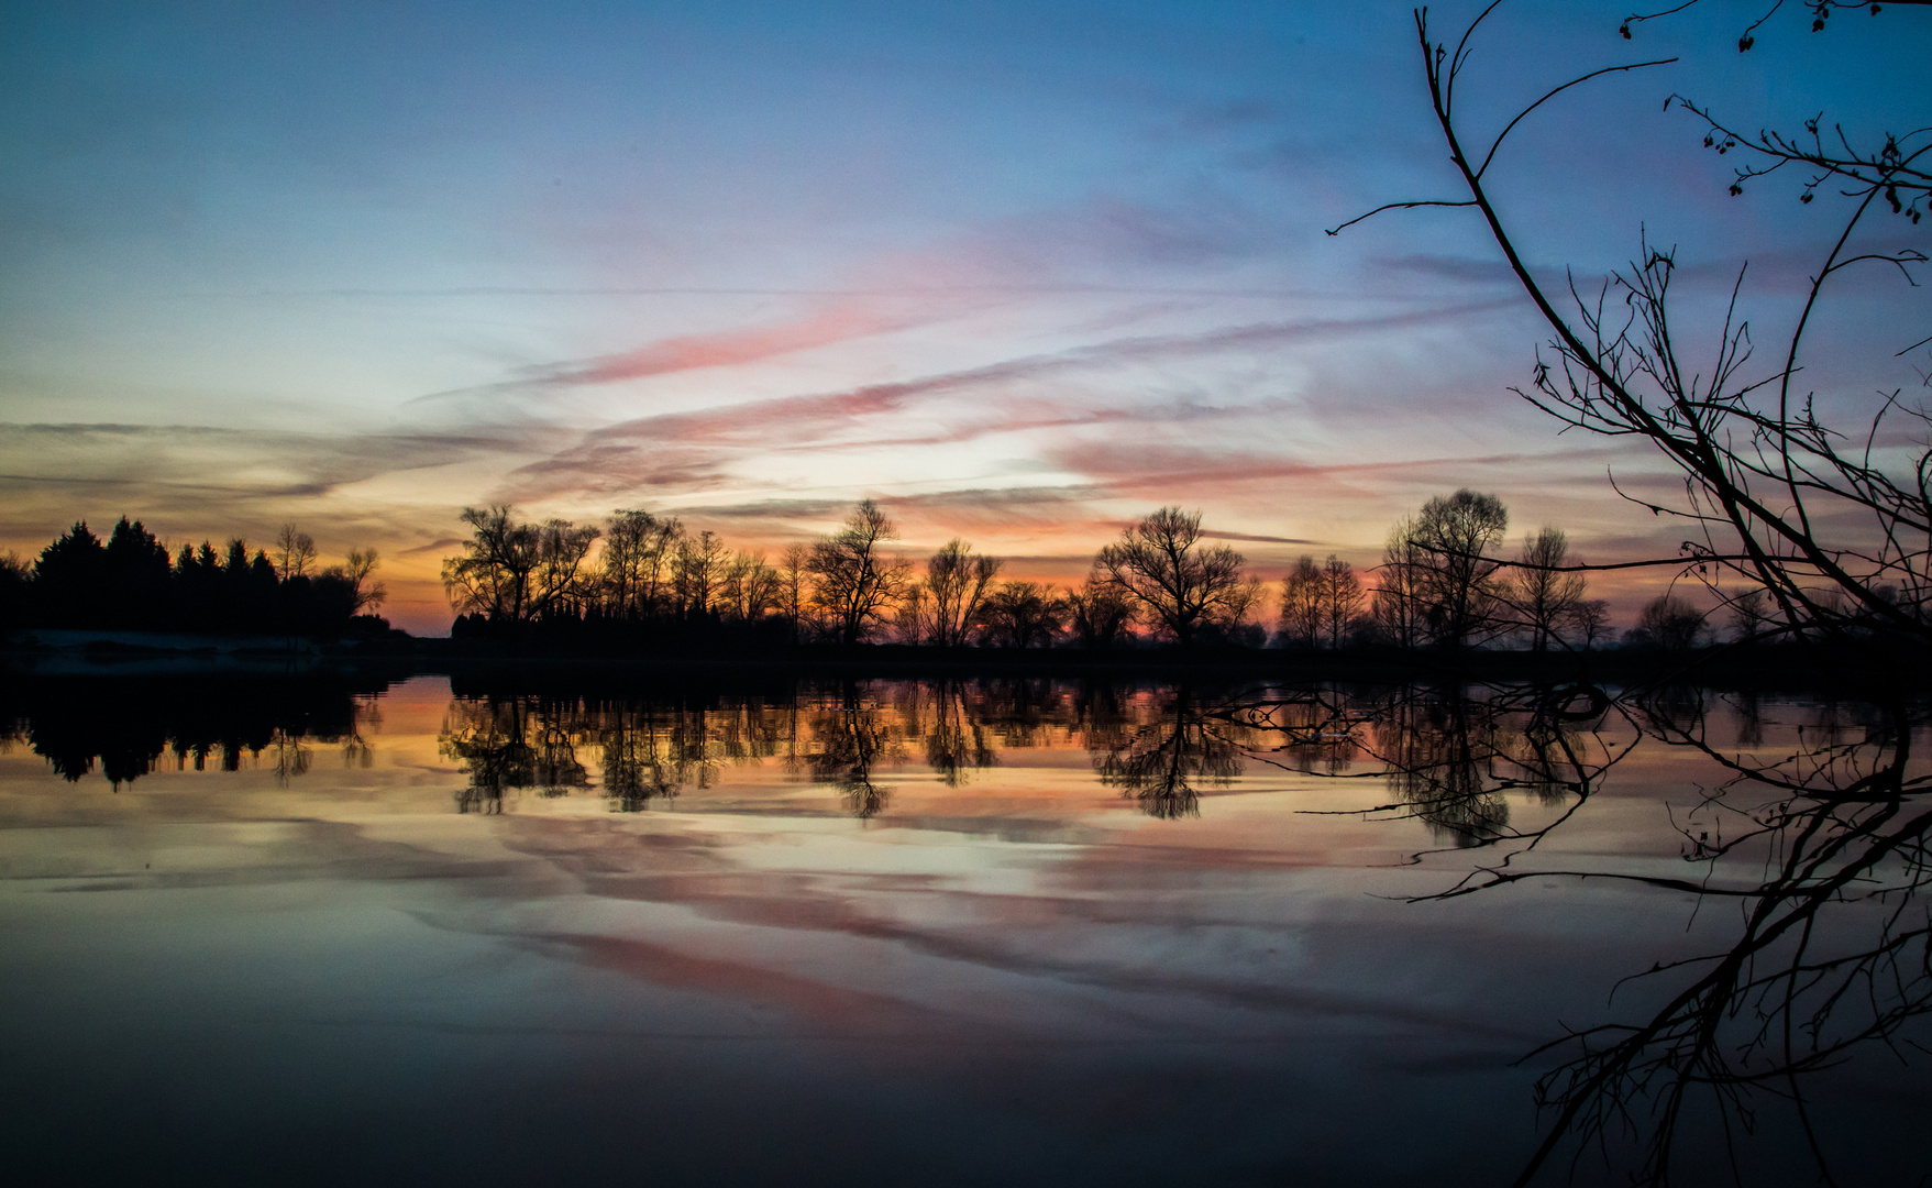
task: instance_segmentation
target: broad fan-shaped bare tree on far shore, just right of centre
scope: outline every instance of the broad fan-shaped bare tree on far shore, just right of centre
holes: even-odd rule
[[[1099,551],[1094,568],[1182,645],[1229,632],[1262,601],[1227,545],[1200,545],[1202,514],[1161,508]]]

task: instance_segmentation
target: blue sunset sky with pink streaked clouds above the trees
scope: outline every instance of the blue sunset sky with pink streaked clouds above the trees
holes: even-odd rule
[[[1511,133],[1492,184],[1532,269],[1594,286],[1677,245],[1708,338],[1748,261],[1756,336],[1787,332],[1830,201],[1729,197],[1733,160],[1662,100],[1884,131],[1922,116],[1932,19],[1814,37],[1793,10],[1739,54],[1760,8],[1633,41],[1627,8],[1490,17],[1478,139],[1573,73],[1681,58]],[[1509,392],[1548,334],[1474,214],[1323,234],[1455,185],[1401,4],[8,2],[0,551],[81,518],[294,522],[325,562],[379,549],[384,612],[431,634],[487,502],[777,551],[875,498],[908,556],[958,535],[1055,581],[1179,504],[1273,580],[1374,564],[1472,487],[1513,537],[1669,554],[1681,525],[1617,489],[1677,479]],[[1893,352],[1926,292],[1833,294],[1828,408],[1920,382]],[[1627,616],[1656,580],[1598,589]]]

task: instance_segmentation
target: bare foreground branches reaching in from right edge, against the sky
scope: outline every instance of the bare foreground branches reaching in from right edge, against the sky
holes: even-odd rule
[[[1658,564],[1677,564],[1710,583],[1719,599],[1750,587],[1766,591],[1772,603],[1766,614],[1787,636],[1868,645],[1864,655],[1878,663],[1922,655],[1932,643],[1932,446],[1924,444],[1932,413],[1905,406],[1903,388],[1882,390],[1868,423],[1847,433],[1826,423],[1814,394],[1795,381],[1808,348],[1806,328],[1828,284],[1841,286],[1843,274],[1857,265],[1882,265],[1911,282],[1911,269],[1926,263],[1915,247],[1866,247],[1862,232],[1866,216],[1888,207],[1918,222],[1932,195],[1924,166],[1932,127],[1920,126],[1903,137],[1888,133],[1876,149],[1855,147],[1841,129],[1832,135],[1833,145],[1820,118],[1806,122],[1803,137],[1774,131],[1747,137],[1708,106],[1673,97],[1706,124],[1708,147],[1747,158],[1731,182],[1733,195],[1752,178],[1797,166],[1810,176],[1803,201],[1824,195],[1843,203],[1832,247],[1812,270],[1803,307],[1772,365],[1750,367],[1752,334],[1739,311],[1743,270],[1714,334],[1712,363],[1692,365],[1669,317],[1675,251],[1646,241],[1629,269],[1611,272],[1594,292],[1580,290],[1575,280],[1567,294],[1549,292],[1524,263],[1486,182],[1507,135],[1544,102],[1588,79],[1673,60],[1571,77],[1509,120],[1488,149],[1470,151],[1455,108],[1455,85],[1470,62],[1472,35],[1493,8],[1486,8],[1453,46],[1435,41],[1426,14],[1416,14],[1435,122],[1468,197],[1389,203],[1378,211],[1472,207],[1484,216],[1553,334],[1549,354],[1538,357],[1530,386],[1519,394],[1567,427],[1648,440],[1683,475],[1683,502],[1638,500],[1685,522],[1694,537],[1685,541],[1681,558],[1656,558]],[[1826,0],[1810,8],[1822,29],[1835,4]],[[1629,21],[1623,33],[1631,35]],[[1748,50],[1750,41],[1747,31],[1739,48]],[[1888,438],[1913,442],[1915,437],[1907,448],[1882,448]],[[1718,580],[1725,574],[1741,583],[1719,589]]]

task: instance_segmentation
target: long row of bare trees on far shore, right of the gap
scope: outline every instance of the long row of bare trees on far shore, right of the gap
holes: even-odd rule
[[[690,531],[674,516],[620,510],[603,525],[520,522],[466,508],[471,539],[442,564],[458,637],[512,643],[630,639],[645,645],[1397,647],[1532,651],[1609,641],[1604,599],[1559,527],[1499,556],[1509,512],[1457,491],[1395,523],[1368,574],[1302,556],[1271,589],[1211,543],[1200,512],[1161,508],[1099,549],[1070,589],[1003,580],[1005,560],[947,541],[923,562],[891,551],[896,527],[871,500],[833,533],[777,560]],[[1273,614],[1269,614],[1273,610]],[[1689,626],[1687,626],[1689,622]],[[1273,630],[1269,630],[1273,628]],[[1702,612],[1654,601],[1627,643],[1692,647]]]

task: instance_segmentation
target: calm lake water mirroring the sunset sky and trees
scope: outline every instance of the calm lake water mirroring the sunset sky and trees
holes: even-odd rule
[[[75,678],[4,711],[33,1182],[1507,1184],[1546,1142],[1534,1182],[1627,1182],[1669,1134],[1694,1184],[1727,1130],[1750,1184],[1932,1167],[1928,740],[1878,707]]]

